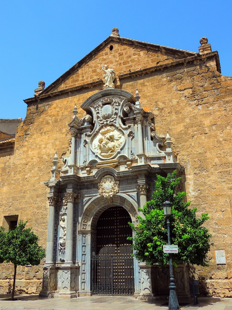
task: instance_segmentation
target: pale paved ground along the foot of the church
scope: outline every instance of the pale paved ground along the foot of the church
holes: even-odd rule
[[[167,301],[142,301],[134,297],[92,296],[74,299],[43,298],[38,295],[15,295],[18,300],[6,300],[9,295],[0,295],[1,310],[167,310]],[[204,298],[198,299],[199,305],[193,301],[180,301],[180,307],[185,310],[232,310],[232,298]]]

